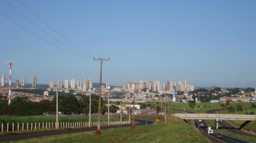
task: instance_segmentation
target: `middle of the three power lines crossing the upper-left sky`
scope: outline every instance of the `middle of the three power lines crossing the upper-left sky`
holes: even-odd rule
[[[4,0],[4,1],[5,1],[6,3],[8,3],[6,0]],[[17,10],[17,8],[15,8],[14,6],[12,6],[10,3],[8,3],[8,4],[9,4],[9,6],[11,6],[12,8],[14,8],[15,11],[17,11],[20,15],[22,15],[22,16],[25,17],[27,20],[29,20],[29,18],[26,17],[24,14],[22,14],[19,10]],[[76,51],[76,52],[78,52],[78,53],[81,53],[80,51],[78,51],[78,50],[76,50],[76,49],[74,49],[74,48],[71,48],[70,46],[68,46],[68,45],[64,44],[63,42],[59,41],[59,40],[56,39],[54,36],[52,36],[51,34],[49,34],[47,31],[44,31],[44,29],[40,28],[37,24],[35,24],[34,22],[32,22],[32,20],[29,20],[29,22],[31,22],[33,25],[35,25],[37,28],[39,28],[39,29],[40,29],[41,31],[43,31],[45,34],[49,35],[50,37],[52,37],[52,38],[55,39],[56,41],[60,42],[62,45],[65,45],[67,48],[70,48],[70,49],[72,49],[72,50],[74,50],[74,51]],[[90,57],[90,58],[93,57],[93,56],[87,55],[87,54],[85,54],[85,53],[81,53],[81,54],[83,54],[83,55],[85,55],[85,56],[88,56],[88,57]]]

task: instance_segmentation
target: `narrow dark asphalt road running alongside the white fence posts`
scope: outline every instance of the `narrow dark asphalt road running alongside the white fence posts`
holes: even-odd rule
[[[135,120],[138,123],[136,126],[145,125],[146,121],[144,120]],[[153,121],[148,121],[148,124],[154,123]],[[101,129],[112,129],[112,128],[121,128],[121,127],[128,127],[129,125],[122,125],[122,126],[102,126]],[[69,134],[69,133],[76,133],[76,132],[86,132],[86,131],[95,131],[97,127],[92,128],[84,128],[84,129],[64,129],[64,130],[57,130],[57,131],[45,131],[45,132],[31,132],[31,133],[22,133],[22,134],[15,134],[15,135],[0,135],[0,142],[12,141],[12,140],[23,140],[29,139],[33,137],[43,137],[43,136],[50,136],[50,135],[60,135],[60,134]]]

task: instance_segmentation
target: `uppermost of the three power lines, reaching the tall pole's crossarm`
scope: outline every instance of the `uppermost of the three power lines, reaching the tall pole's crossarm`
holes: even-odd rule
[[[60,34],[58,31],[56,31],[54,28],[52,28],[49,24],[47,24],[44,20],[42,20],[40,17],[38,17],[34,12],[32,12],[28,7],[26,7],[23,3],[20,2],[20,0],[17,0],[22,6],[24,6],[28,11],[30,11],[33,15],[35,15],[35,17],[37,17],[39,20],[41,20],[45,25],[47,25],[49,28],[51,28],[53,31],[55,31],[57,34],[59,34],[60,36],[62,36],[64,39],[66,39],[67,41],[71,42],[72,44],[76,45],[77,47],[81,48],[82,50],[85,50],[88,53],[91,53],[95,56],[99,56],[99,57],[104,57],[104,58],[108,58],[105,56],[100,56],[97,55],[96,53],[90,52],[84,48],[82,48],[81,46],[77,45],[75,42],[72,42],[70,39],[67,39],[67,37],[63,36],[62,34]]]

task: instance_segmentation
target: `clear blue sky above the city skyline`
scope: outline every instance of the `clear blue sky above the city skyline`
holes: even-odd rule
[[[17,0],[7,0],[59,41],[91,56],[56,34]],[[102,82],[189,81],[201,87],[256,87],[256,0],[20,0],[72,42],[112,62]],[[60,48],[4,0],[0,12]],[[0,73],[14,61],[12,77],[38,84],[92,78],[99,62],[61,50],[0,14]],[[79,54],[79,53],[78,53]],[[97,57],[97,56],[95,56]],[[113,71],[113,73],[106,67]],[[113,77],[109,76],[107,71]],[[117,75],[114,75],[114,73]]]

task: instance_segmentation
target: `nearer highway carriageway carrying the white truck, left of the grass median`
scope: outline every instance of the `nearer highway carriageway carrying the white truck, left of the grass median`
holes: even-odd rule
[[[203,123],[203,126],[200,126],[201,123]],[[195,120],[195,126],[197,128],[199,126],[199,129],[201,132],[203,132],[205,135],[212,137],[214,140],[211,140],[211,141],[213,141],[214,143],[251,143],[249,141],[242,140],[236,137],[230,137],[227,135],[222,135],[222,137],[217,137],[218,133],[215,132],[214,130],[213,130],[213,134],[207,134],[207,127],[209,125],[205,120],[202,120],[201,122],[199,122],[198,120]]]

